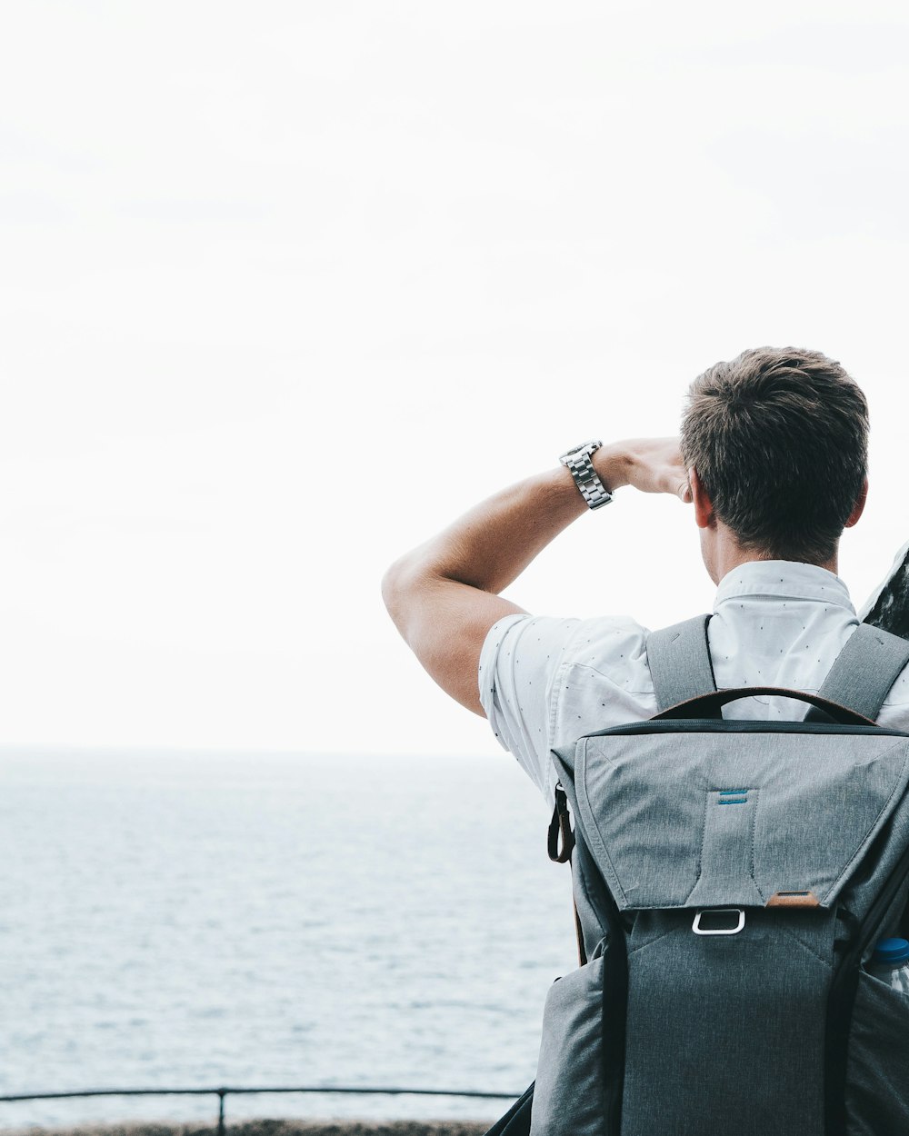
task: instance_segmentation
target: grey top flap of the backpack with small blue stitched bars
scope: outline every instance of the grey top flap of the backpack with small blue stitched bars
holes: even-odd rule
[[[883,732],[593,736],[575,762],[578,828],[623,910],[804,891],[831,905],[907,819],[909,738]]]

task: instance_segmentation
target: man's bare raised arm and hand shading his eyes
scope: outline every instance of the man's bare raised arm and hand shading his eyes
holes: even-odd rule
[[[691,500],[677,438],[603,445],[592,460],[610,491],[634,485]],[[474,713],[483,715],[477,667],[486,634],[523,612],[499,593],[586,508],[559,466],[476,506],[385,574],[382,595],[398,630],[442,690]]]

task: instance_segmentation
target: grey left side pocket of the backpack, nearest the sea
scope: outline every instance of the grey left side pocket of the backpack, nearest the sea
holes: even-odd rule
[[[531,1136],[602,1133],[602,957],[550,987],[543,1011]]]

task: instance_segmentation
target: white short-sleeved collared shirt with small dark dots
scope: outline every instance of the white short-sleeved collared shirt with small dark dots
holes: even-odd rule
[[[723,580],[708,625],[719,688],[787,686],[817,692],[858,625],[845,584],[815,565],[754,560]],[[506,616],[479,658],[479,700],[495,736],[551,801],[550,750],[657,712],[648,628],[626,618]],[[882,726],[909,730],[909,668],[881,711]],[[795,718],[798,703],[753,698],[726,718]]]

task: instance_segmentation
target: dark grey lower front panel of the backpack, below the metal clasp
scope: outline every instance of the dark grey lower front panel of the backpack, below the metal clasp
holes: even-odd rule
[[[776,934],[699,937],[689,912],[642,916],[628,952],[622,1136],[822,1136],[831,967]],[[823,917],[827,937],[833,919]],[[895,1134],[894,1134],[895,1136]]]

